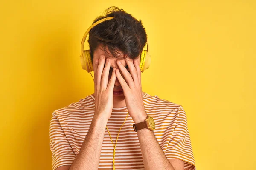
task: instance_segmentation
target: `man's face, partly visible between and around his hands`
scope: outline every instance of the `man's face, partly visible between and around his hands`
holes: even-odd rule
[[[107,51],[108,51],[108,48],[106,47]],[[93,71],[95,72],[96,70],[94,70],[95,68],[95,61],[96,59],[99,59],[99,57],[101,55],[105,55],[105,58],[109,58],[110,61],[111,61],[111,66],[110,66],[110,70],[109,70],[109,76],[108,76],[108,81],[110,80],[111,78],[111,75],[112,75],[112,71],[113,71],[113,68],[119,68],[117,63],[116,63],[116,60],[118,60],[119,58],[124,58],[124,54],[120,55],[119,58],[116,58],[116,57],[113,57],[110,52],[108,51],[108,54],[105,53],[105,51],[103,50],[103,48],[97,48],[95,51],[94,51],[94,54],[93,54]],[[119,60],[120,60],[119,59]],[[140,60],[140,57],[138,57],[138,60]],[[122,65],[125,66],[125,68],[127,69],[127,71],[129,71],[129,68],[128,68],[128,65],[125,61],[125,59],[121,59],[121,63]],[[130,71],[129,71],[130,72]],[[122,74],[122,71],[120,71],[122,77],[125,79],[124,75]],[[120,84],[120,82],[118,81],[117,77],[116,77],[116,82],[115,82],[115,86],[114,86],[114,92],[113,92],[113,99],[114,100],[124,100],[124,93],[123,93],[123,90],[122,90],[122,86]]]

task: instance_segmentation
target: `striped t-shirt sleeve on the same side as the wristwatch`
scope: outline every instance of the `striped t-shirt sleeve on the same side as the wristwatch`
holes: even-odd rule
[[[184,170],[195,170],[195,159],[187,126],[186,113],[181,105],[177,109],[175,126],[171,135],[165,151],[167,159],[183,160]]]

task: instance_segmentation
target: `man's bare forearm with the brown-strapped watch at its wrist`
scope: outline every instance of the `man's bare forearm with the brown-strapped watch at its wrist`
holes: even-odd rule
[[[146,115],[134,119],[134,123],[145,121]],[[145,170],[175,170],[157,142],[154,132],[147,128],[137,131]]]

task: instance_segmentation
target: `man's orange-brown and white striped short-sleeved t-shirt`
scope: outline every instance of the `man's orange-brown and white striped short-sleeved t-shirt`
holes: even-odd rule
[[[143,103],[148,116],[153,117],[153,131],[167,159],[184,161],[185,170],[195,170],[195,160],[187,126],[186,113],[182,105],[151,96],[143,92]],[[50,121],[50,149],[52,151],[52,169],[71,165],[81,149],[81,145],[90,127],[95,108],[95,99],[88,95],[78,102],[55,110]],[[125,121],[128,110],[113,108],[107,127],[113,143],[120,127]],[[115,152],[116,170],[144,170],[143,158],[134,121],[128,115],[120,130]],[[99,170],[113,169],[113,144],[108,130],[102,143]],[[152,148],[154,149],[154,148]]]

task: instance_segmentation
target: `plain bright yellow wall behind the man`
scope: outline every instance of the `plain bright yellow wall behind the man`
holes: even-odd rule
[[[152,57],[143,91],[183,105],[197,170],[255,169],[253,0],[3,1],[1,169],[51,169],[52,112],[93,93],[81,39],[109,6],[143,21]]]

